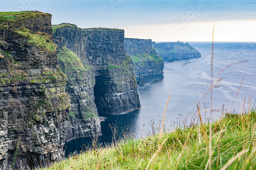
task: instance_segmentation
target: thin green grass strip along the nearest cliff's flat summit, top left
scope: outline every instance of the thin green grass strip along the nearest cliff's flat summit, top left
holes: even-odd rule
[[[27,18],[35,18],[41,15],[51,15],[39,11],[23,11],[23,12],[0,12],[1,22],[12,22],[16,20],[23,20]]]

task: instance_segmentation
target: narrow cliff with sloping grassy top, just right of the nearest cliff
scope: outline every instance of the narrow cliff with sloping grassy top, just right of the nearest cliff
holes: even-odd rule
[[[94,71],[88,65],[83,65],[66,46],[58,46],[57,51],[59,67],[68,76],[66,92],[71,99],[66,141],[101,134],[100,119],[94,103]]]

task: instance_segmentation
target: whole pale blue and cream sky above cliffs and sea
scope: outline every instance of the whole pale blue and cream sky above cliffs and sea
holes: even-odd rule
[[[0,11],[37,10],[52,24],[124,29],[153,41],[256,41],[256,0],[0,0]]]

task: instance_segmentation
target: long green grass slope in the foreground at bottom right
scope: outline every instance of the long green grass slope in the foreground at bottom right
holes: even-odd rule
[[[130,138],[107,148],[94,147],[45,169],[256,168],[255,109],[247,114],[227,113],[211,127],[211,134],[210,125],[205,124],[178,127],[162,137]]]

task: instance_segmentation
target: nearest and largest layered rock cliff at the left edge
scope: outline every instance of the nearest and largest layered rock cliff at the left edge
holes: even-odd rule
[[[70,96],[56,54],[50,14],[0,12],[2,169],[12,163],[14,169],[38,167],[64,156]]]

